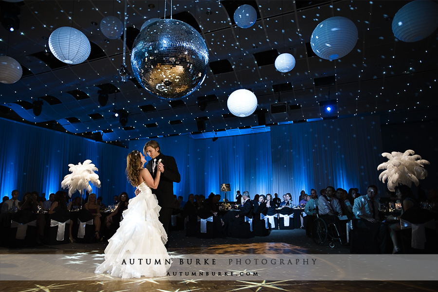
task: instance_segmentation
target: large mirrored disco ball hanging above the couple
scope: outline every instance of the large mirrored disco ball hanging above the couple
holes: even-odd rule
[[[160,19],[135,38],[131,67],[138,82],[164,99],[189,95],[200,87],[208,68],[208,49],[187,23]]]

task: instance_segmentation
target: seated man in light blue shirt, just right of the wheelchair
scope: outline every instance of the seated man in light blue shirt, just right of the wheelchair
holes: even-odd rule
[[[357,219],[355,228],[357,232],[368,231],[367,239],[375,241],[376,248],[374,250],[383,254],[386,249],[387,232],[386,226],[379,220],[379,204],[374,201],[374,196],[377,195],[377,186],[368,186],[366,193],[366,195],[354,200],[353,215]],[[371,249],[373,249],[372,246]]]

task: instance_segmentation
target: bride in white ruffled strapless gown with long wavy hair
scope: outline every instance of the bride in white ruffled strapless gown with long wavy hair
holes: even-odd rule
[[[105,261],[96,268],[97,274],[108,272],[122,279],[153,277],[165,276],[170,268],[171,260],[164,247],[167,234],[158,220],[161,207],[150,190],[157,188],[163,164],[159,162],[154,180],[143,168],[145,163],[146,159],[140,151],[128,154],[128,181],[141,192],[129,200],[128,209],[123,211],[123,220],[109,239]]]

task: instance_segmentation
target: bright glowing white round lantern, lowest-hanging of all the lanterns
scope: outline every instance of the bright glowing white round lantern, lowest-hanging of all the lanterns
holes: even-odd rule
[[[257,97],[249,90],[238,89],[228,96],[227,107],[235,116],[247,117],[256,110]]]

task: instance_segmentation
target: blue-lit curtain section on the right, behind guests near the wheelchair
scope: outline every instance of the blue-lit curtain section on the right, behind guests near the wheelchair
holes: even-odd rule
[[[358,117],[271,127],[273,192],[291,193],[332,185],[348,190],[378,185],[380,117]],[[384,194],[384,189],[379,189]]]

